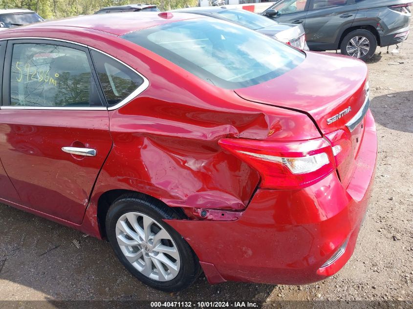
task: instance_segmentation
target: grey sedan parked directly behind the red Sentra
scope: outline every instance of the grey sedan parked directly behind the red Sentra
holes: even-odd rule
[[[288,45],[299,49],[308,50],[307,44],[305,43],[305,34],[302,25],[279,23],[246,10],[228,9],[225,6],[191,7],[188,9],[177,9],[173,12],[175,11],[199,14],[224,21],[231,21],[275,38],[278,41],[287,43]]]

